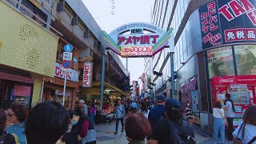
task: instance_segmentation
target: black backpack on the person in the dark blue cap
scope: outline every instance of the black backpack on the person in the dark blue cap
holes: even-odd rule
[[[168,143],[174,144],[195,144],[194,132],[192,127],[186,121],[173,122],[166,120],[170,126],[170,135]]]

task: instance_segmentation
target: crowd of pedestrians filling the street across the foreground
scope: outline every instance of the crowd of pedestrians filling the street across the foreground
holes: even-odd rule
[[[129,144],[180,144],[196,143],[194,138],[193,110],[190,103],[186,109],[174,98],[166,99],[163,94],[156,98],[153,108],[148,101],[127,102],[118,100],[114,106],[114,118],[118,134],[121,122]],[[127,111],[130,110],[130,113]],[[234,102],[226,94],[224,106],[215,102],[214,143],[225,142],[225,123],[228,124],[227,138],[234,143],[256,144],[256,106],[249,106],[243,114],[243,122],[234,130]],[[14,104],[8,110],[0,109],[0,143],[3,144],[94,144],[94,116],[101,114],[98,105],[86,105],[80,100],[77,110],[66,110],[59,102],[40,102],[30,112],[25,106]],[[125,116],[128,115],[126,118]],[[184,118],[186,115],[187,121]]]

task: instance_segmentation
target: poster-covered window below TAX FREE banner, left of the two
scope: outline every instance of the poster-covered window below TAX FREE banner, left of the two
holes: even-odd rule
[[[231,46],[207,50],[209,78],[234,75],[234,61]]]

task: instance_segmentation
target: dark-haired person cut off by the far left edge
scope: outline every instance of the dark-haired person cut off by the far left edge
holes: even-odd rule
[[[0,109],[0,143],[2,144],[18,144],[18,137],[15,134],[6,132],[6,112]]]

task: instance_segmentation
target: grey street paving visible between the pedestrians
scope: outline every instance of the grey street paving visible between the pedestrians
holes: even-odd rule
[[[99,144],[121,144],[128,143],[126,133],[121,133],[121,124],[119,123],[118,134],[114,134],[115,122],[95,126],[97,134],[97,143]],[[212,138],[200,130],[194,130],[197,143],[212,143]],[[226,142],[231,143],[231,142]]]

